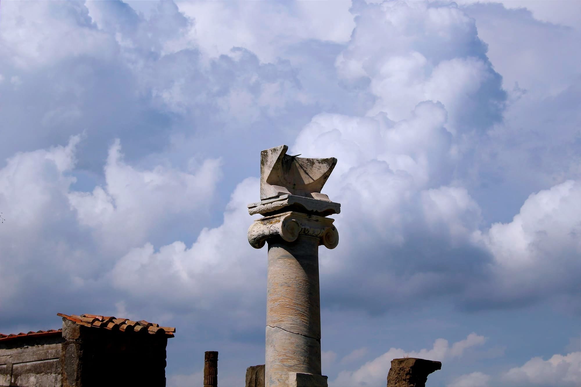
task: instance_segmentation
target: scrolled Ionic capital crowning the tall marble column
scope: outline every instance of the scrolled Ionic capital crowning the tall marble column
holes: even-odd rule
[[[286,242],[294,242],[301,234],[320,238],[319,244],[328,249],[336,248],[339,243],[333,219],[292,211],[255,220],[248,229],[248,242],[260,249],[268,238],[280,236]]]

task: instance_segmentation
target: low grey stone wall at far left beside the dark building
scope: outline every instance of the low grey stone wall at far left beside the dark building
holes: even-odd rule
[[[60,332],[0,342],[0,386],[60,386],[63,342]]]

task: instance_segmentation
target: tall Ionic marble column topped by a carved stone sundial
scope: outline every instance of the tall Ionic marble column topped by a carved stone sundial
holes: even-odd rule
[[[333,249],[339,234],[330,214],[340,212],[321,193],[337,159],[286,155],[281,145],[261,152],[261,214],[248,230],[260,249],[268,243],[265,386],[327,386],[321,375],[318,247]]]

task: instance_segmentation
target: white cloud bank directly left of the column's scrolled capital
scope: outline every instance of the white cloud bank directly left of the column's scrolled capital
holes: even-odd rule
[[[246,203],[258,192],[257,183],[255,178],[241,182],[232,193],[223,224],[204,228],[190,248],[178,241],[157,251],[150,243],[131,249],[110,273],[115,288],[160,305],[168,298],[202,310],[231,304],[232,310],[224,313],[248,317],[252,314],[248,308],[256,307],[256,297],[263,291],[259,284],[264,252],[251,249],[246,236],[252,221]],[[146,289],[139,286],[144,281]],[[237,296],[232,299],[232,295]]]

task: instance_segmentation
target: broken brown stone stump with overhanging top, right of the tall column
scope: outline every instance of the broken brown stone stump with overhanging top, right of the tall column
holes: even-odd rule
[[[388,387],[425,387],[428,375],[441,369],[440,361],[415,357],[393,359],[388,373]]]

